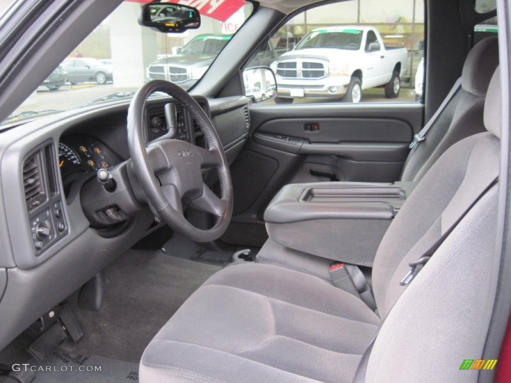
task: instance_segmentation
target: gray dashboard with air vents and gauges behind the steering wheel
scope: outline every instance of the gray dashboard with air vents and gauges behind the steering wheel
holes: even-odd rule
[[[232,163],[248,139],[248,99],[195,99]],[[165,105],[175,102],[148,102],[147,142],[168,137]],[[125,101],[90,105],[0,133],[0,348],[163,225],[129,178],[128,107]],[[189,113],[175,110],[174,138],[206,147]],[[114,192],[95,179],[102,168],[110,170]],[[215,170],[208,171],[204,179],[216,182]],[[89,212],[106,225],[92,225]]]

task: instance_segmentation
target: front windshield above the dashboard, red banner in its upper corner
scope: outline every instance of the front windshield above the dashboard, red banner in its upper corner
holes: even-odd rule
[[[0,126],[130,99],[150,80],[171,81],[188,90],[252,12],[252,4],[241,0],[195,2],[201,14],[200,28],[165,34],[138,25],[144,3],[147,0],[121,3]]]

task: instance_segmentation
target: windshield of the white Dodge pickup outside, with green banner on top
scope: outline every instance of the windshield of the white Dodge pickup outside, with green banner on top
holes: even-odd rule
[[[295,50],[310,48],[336,48],[358,51],[362,43],[362,31],[356,29],[316,30],[306,35]]]

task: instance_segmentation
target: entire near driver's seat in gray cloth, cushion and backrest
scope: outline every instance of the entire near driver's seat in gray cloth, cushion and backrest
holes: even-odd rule
[[[500,105],[496,74],[485,106],[490,132],[449,148],[390,225],[373,268],[377,314],[306,273],[228,267],[156,334],[142,356],[140,381],[350,382],[380,325],[367,383],[477,381],[459,365],[481,357],[491,319],[499,271],[497,185],[407,288],[399,281],[497,176]]]

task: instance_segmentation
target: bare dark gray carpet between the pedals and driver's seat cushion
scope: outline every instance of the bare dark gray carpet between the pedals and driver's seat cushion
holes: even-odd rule
[[[156,332],[213,273],[210,266],[161,251],[129,250],[105,270],[110,280],[99,312],[69,304],[84,339],[73,353],[136,362]]]

